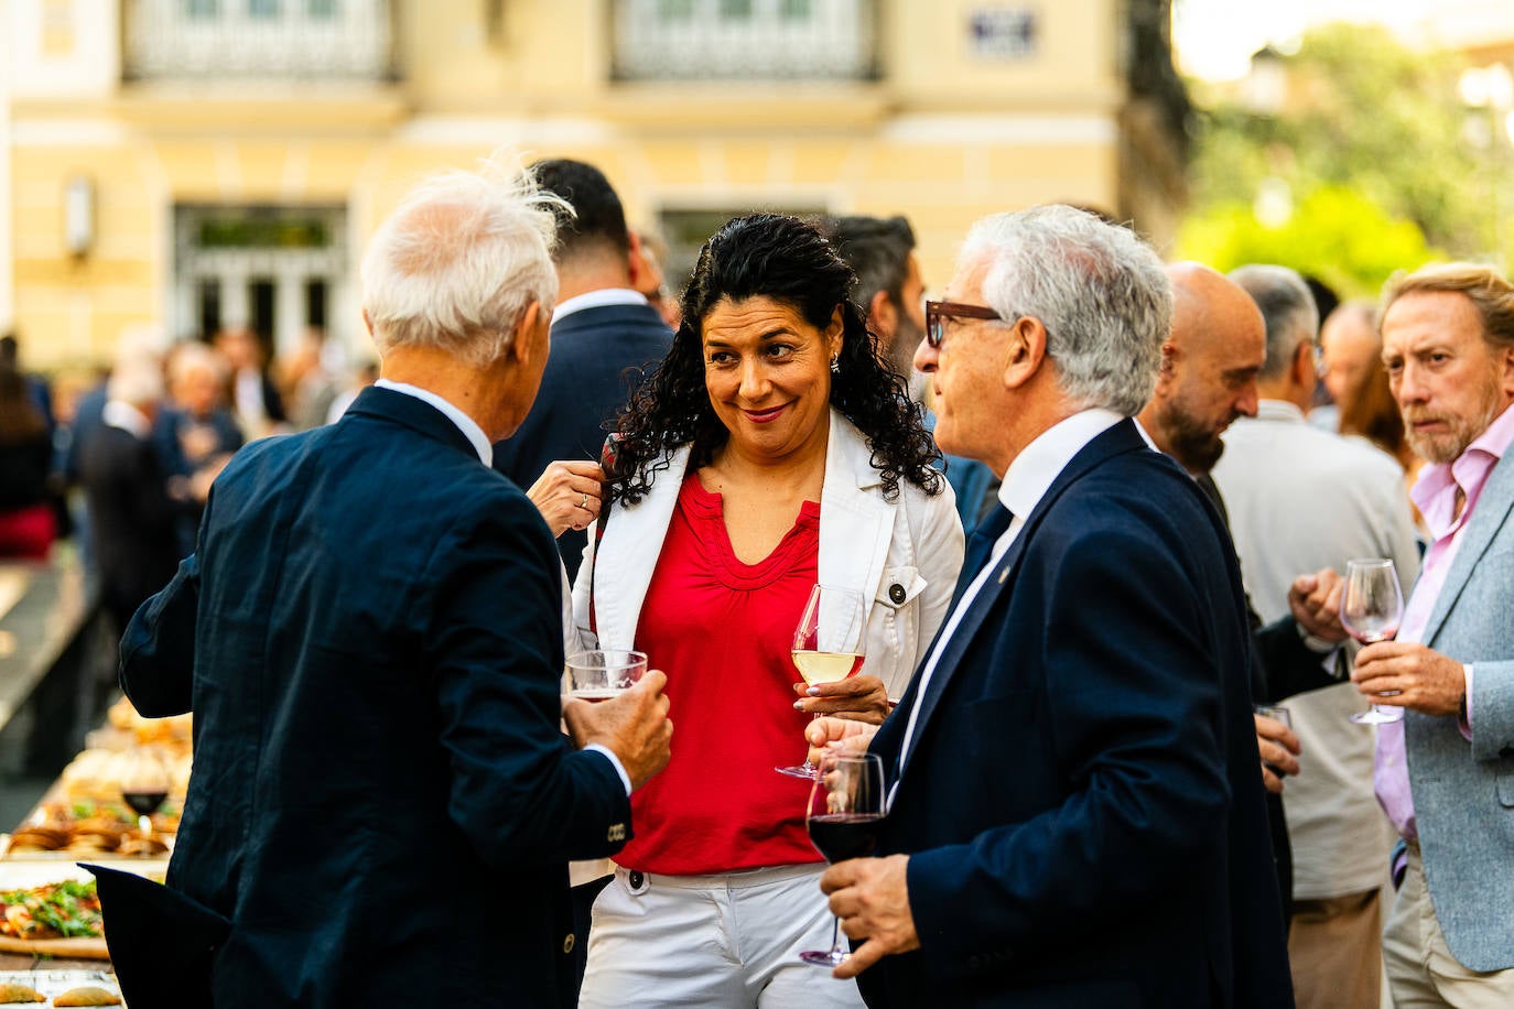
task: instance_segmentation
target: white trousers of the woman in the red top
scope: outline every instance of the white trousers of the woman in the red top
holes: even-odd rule
[[[831,948],[824,871],[654,876],[616,867],[593,903],[580,1009],[861,1009],[855,982],[799,961],[802,950]]]

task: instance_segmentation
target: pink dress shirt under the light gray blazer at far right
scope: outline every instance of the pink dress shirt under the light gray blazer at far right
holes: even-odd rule
[[[1403,622],[1399,625],[1399,641],[1423,643],[1429,616],[1435,610],[1440,590],[1446,585],[1446,573],[1456,560],[1461,531],[1467,528],[1482,486],[1509,443],[1514,443],[1514,407],[1508,407],[1467,446],[1452,463],[1426,466],[1410,490],[1410,498],[1425,516],[1431,532],[1431,546],[1425,554],[1419,581],[1403,607]],[[1466,495],[1467,504],[1456,514],[1456,490]],[[1467,666],[1467,726],[1472,723],[1472,667]],[[1403,723],[1387,722],[1378,726],[1378,759],[1372,771],[1372,784],[1378,802],[1393,821],[1397,832],[1410,841],[1419,840],[1414,823],[1414,797],[1410,794],[1410,768],[1403,749]]]

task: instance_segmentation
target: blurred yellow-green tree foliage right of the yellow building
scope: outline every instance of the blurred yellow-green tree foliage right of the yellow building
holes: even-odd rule
[[[1469,115],[1487,112],[1463,107],[1456,56],[1337,24],[1307,35],[1284,65],[1282,109],[1263,115],[1232,100],[1201,115],[1193,209],[1178,239],[1185,256],[1284,263],[1347,295],[1375,293],[1394,269],[1431,259],[1490,257],[1514,203],[1499,171],[1514,151],[1463,139]],[[1255,218],[1264,185],[1291,194],[1285,222]]]

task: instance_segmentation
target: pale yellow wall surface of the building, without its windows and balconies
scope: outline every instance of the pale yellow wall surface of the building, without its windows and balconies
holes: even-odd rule
[[[171,304],[182,203],[342,204],[350,262],[424,174],[497,145],[600,165],[633,224],[663,209],[905,213],[943,286],[977,218],[1045,201],[1114,209],[1113,0],[1040,5],[1040,50],[966,50],[969,0],[881,5],[881,82],[618,83],[607,0],[400,0],[398,83],[345,91],[126,85],[112,101],[18,103],[15,324],[35,368],[109,360]],[[70,124],[85,144],[67,136]],[[95,183],[95,244],[64,250],[64,180]],[[333,328],[357,333],[356,319]]]

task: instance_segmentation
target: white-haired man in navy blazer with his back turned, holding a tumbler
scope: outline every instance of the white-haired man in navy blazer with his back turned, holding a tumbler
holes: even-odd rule
[[[101,882],[133,1003],[569,1004],[566,861],[621,849],[671,725],[659,672],[562,703],[553,537],[489,467],[547,359],[550,204],[410,194],[362,265],[383,378],[238,452],[127,629],[132,702],[195,716],[168,893]]]

